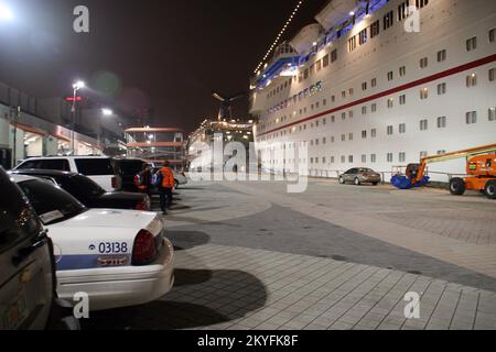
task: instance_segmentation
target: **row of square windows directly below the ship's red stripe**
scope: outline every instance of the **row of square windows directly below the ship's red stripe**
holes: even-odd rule
[[[492,82],[495,81],[495,68],[489,69],[488,80],[492,81]],[[467,88],[475,87],[477,85],[477,74],[471,74],[471,75],[466,76],[465,85],[466,85]],[[438,95],[439,96],[445,95],[446,91],[448,91],[448,85],[445,82],[439,84],[436,88],[438,88]],[[425,100],[428,98],[429,98],[429,88],[420,89],[420,99],[421,100]],[[398,100],[399,100],[399,105],[400,106],[405,106],[407,103],[407,95],[399,96]],[[326,106],[326,100],[325,99],[323,100],[322,105]],[[388,98],[387,99],[387,107],[388,107],[388,109],[392,109],[395,107],[395,99],[393,98]],[[311,110],[312,111],[314,109],[319,109],[319,108],[320,108],[320,102],[311,105]],[[370,105],[370,111],[373,113],[377,112],[377,103],[376,102]],[[306,107],[303,108],[303,109],[300,109],[300,116],[302,116],[304,113],[306,113]],[[362,107],[362,114],[367,114],[367,113],[368,113],[368,106],[363,106]],[[294,111],[293,112],[293,117],[295,114],[296,114],[296,112]],[[348,112],[342,112],[342,114],[341,114],[342,120],[346,120],[346,117],[352,119],[354,117],[354,110],[349,110]],[[276,123],[284,122],[287,120],[288,120],[288,117],[282,117],[281,119],[277,119]],[[335,122],[336,122],[336,117],[332,116],[331,117],[331,123],[335,123]],[[327,118],[322,119],[322,124],[323,125],[327,124]],[[314,125],[319,127],[320,125],[320,120],[311,123],[311,128],[313,128]],[[299,131],[306,130],[306,124],[300,125],[298,130]],[[290,130],[290,133],[294,133],[294,132],[296,132],[295,128]],[[281,135],[285,135],[287,131],[282,131],[280,133],[281,133]],[[277,138],[277,136],[279,136],[279,134],[276,133],[274,136]],[[270,139],[270,136],[269,136],[269,139]]]

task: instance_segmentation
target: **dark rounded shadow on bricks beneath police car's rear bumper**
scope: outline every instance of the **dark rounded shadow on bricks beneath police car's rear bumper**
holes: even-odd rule
[[[162,300],[91,312],[86,330],[195,329],[226,323],[265,306],[267,290],[240,271],[176,271],[176,285]]]

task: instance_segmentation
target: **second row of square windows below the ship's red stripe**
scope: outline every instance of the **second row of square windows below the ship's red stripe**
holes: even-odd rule
[[[487,120],[489,122],[496,121],[496,107],[492,107],[492,108],[487,109]],[[477,122],[478,122],[477,111],[468,111],[468,112],[465,113],[465,123],[466,124],[475,124]],[[319,123],[316,123],[316,127],[319,127]],[[448,118],[446,117],[439,117],[439,118],[436,118],[436,127],[438,127],[438,129],[445,129],[448,127]],[[300,127],[300,129],[301,129],[301,127]],[[306,128],[304,130],[306,130]],[[428,131],[429,130],[429,119],[422,119],[422,120],[419,121],[419,130],[420,131]],[[400,123],[398,125],[398,132],[399,132],[399,134],[407,133],[407,124],[406,123]],[[386,134],[387,135],[393,135],[395,134],[395,127],[393,125],[388,125],[386,128]],[[371,129],[369,135],[373,139],[377,138],[377,129]],[[353,141],[354,140],[354,134],[353,133],[348,133],[347,135],[346,134],[342,134],[341,135],[341,141],[342,142],[346,142],[346,138],[347,138],[348,141]],[[367,130],[362,131],[362,139],[365,140],[367,138],[368,138],[368,131]],[[263,139],[258,139],[259,142],[262,141],[262,140]],[[334,142],[335,142],[335,136],[331,136],[331,143],[334,143]],[[300,143],[306,144],[308,142],[300,142]],[[320,139],[315,139],[315,140],[311,140],[310,141],[310,145],[311,146],[319,145],[320,143],[321,143]],[[325,136],[322,138],[322,144],[326,144],[326,143],[327,143],[327,138],[325,138]],[[289,146],[290,147],[295,147],[295,143],[293,143],[293,145],[291,145],[291,143],[290,143]],[[270,148],[270,147],[267,147],[267,148]]]

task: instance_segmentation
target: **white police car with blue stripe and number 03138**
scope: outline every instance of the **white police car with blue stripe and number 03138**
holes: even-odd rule
[[[48,229],[57,262],[57,293],[86,293],[89,309],[134,306],[172,289],[173,248],[154,212],[87,209],[40,178],[12,175]]]

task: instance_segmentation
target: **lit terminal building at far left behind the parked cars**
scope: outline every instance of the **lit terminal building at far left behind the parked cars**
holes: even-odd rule
[[[73,132],[72,103],[64,99],[34,98],[0,82],[0,164],[10,169],[29,157],[126,153],[117,117],[78,109],[75,120]]]

